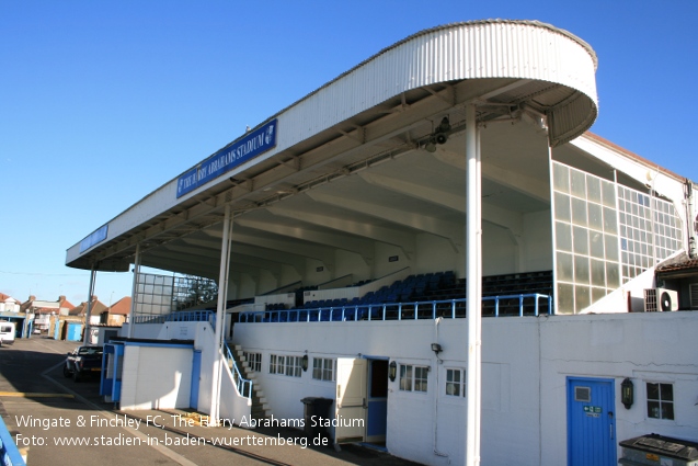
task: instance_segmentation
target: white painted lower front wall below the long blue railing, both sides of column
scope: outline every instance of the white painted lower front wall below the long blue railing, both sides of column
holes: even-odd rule
[[[698,437],[698,314],[607,314],[489,318],[483,331],[482,464],[567,464],[567,377],[616,380],[617,439],[651,432]],[[438,334],[437,334],[438,332]],[[446,396],[446,368],[466,367],[466,321],[240,323],[236,343],[263,354],[259,383],[277,418],[300,419],[307,396],[334,398],[334,384],[268,374],[268,355],[363,355],[427,365],[428,391],[389,383],[387,447],[428,465],[462,464],[466,399]],[[430,345],[444,348],[436,360]],[[636,402],[620,404],[630,377]],[[675,421],[648,419],[646,382],[674,384]],[[436,433],[436,434],[435,434]],[[503,447],[505,445],[505,447]],[[620,457],[620,452],[618,452]]]

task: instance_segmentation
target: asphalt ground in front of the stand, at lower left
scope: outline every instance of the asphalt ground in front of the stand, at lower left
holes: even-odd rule
[[[78,343],[46,338],[0,348],[0,416],[27,465],[414,466],[361,445],[314,446],[291,428],[208,427],[181,410],[118,411],[100,397],[99,376],[62,375]]]

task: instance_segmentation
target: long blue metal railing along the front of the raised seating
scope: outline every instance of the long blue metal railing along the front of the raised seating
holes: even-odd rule
[[[483,317],[552,314],[552,298],[539,293],[488,296],[482,298]],[[466,317],[466,298],[415,303],[354,304],[312,309],[286,309],[240,312],[240,322],[318,322],[357,320],[416,320]],[[490,305],[491,303],[491,305]],[[505,310],[505,312],[503,312]],[[512,311],[513,310],[513,311]]]

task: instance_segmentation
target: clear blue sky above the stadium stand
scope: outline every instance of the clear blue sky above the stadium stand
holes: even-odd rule
[[[698,2],[0,0],[0,292],[87,299],[66,249],[415,32],[539,20],[598,56],[592,132],[698,181]],[[131,276],[98,274],[105,304]]]

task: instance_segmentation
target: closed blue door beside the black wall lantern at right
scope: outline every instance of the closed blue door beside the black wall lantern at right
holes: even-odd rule
[[[616,466],[614,380],[568,377],[568,465]]]

